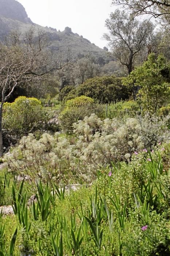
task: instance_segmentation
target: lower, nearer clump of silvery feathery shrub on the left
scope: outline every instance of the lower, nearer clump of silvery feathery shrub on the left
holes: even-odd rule
[[[74,167],[72,147],[66,138],[44,133],[39,140],[29,134],[20,140],[18,147],[5,159],[8,167],[19,174],[27,174],[34,181],[40,178],[44,181],[63,179],[63,172]]]

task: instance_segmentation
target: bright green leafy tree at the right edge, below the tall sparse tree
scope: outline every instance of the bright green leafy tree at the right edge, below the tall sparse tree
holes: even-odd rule
[[[148,60],[135,68],[123,84],[138,87],[138,100],[150,114],[157,112],[170,97],[170,63],[163,56],[150,54]]]

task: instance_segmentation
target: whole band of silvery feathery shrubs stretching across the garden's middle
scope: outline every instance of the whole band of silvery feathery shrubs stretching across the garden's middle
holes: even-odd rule
[[[24,136],[12,156],[6,157],[8,166],[34,180],[89,180],[101,166],[130,161],[135,152],[170,138],[163,120],[157,120],[157,124],[147,117],[101,120],[95,114],[75,123],[74,135],[72,142],[59,133],[44,133],[39,140],[32,134]]]

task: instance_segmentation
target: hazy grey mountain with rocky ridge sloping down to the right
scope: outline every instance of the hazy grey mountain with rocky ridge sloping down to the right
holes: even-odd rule
[[[28,18],[25,8],[18,1],[0,0],[0,40],[3,40],[10,30],[19,30],[21,34],[24,34],[24,31],[27,31],[30,26],[34,26],[35,30],[43,29],[47,32],[49,37],[48,47],[52,51],[70,48],[76,59],[90,53],[96,57],[97,63],[105,64],[110,61],[106,57],[105,50],[92,44],[82,35],[73,33],[70,27],[66,27],[64,31],[42,27]]]

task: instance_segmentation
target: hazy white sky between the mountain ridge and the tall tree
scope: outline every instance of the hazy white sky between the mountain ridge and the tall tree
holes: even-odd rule
[[[71,27],[92,43],[103,48],[107,32],[105,20],[115,10],[111,0],[18,0],[32,22],[63,31]]]

